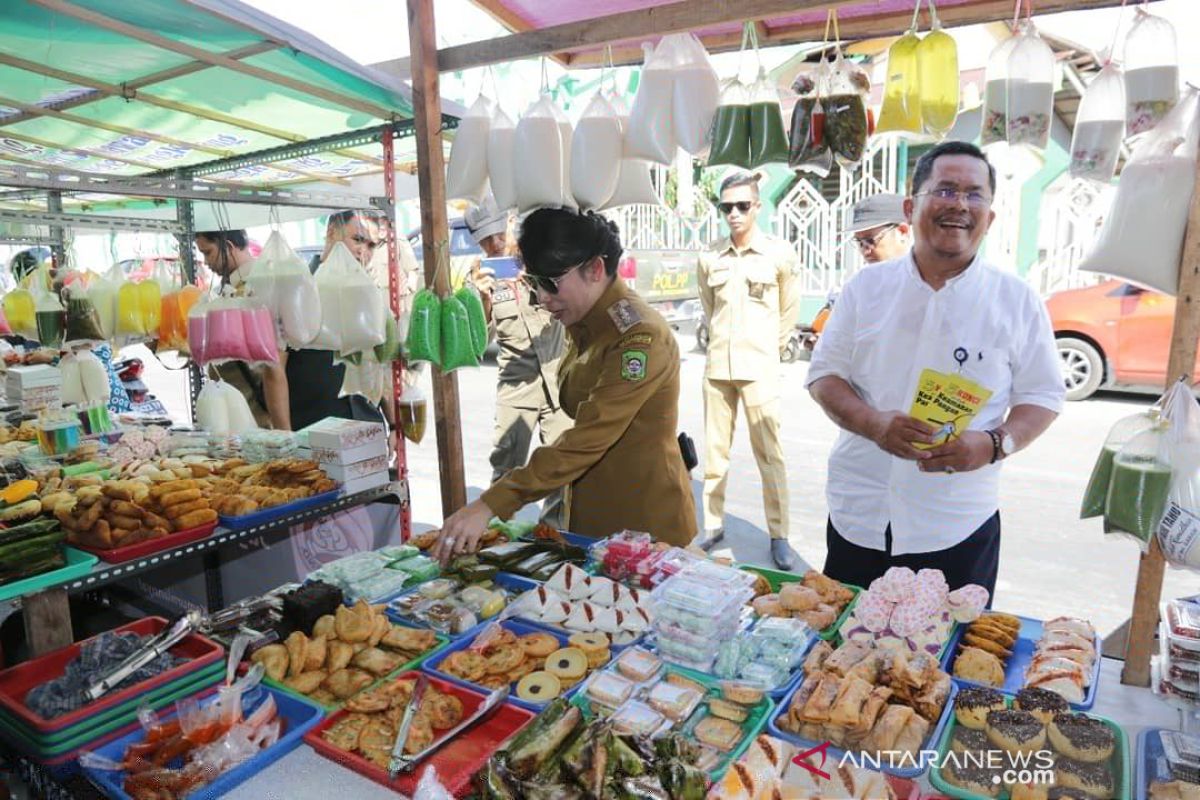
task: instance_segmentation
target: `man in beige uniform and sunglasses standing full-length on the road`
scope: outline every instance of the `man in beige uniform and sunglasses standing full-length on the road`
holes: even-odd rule
[[[796,554],[787,543],[787,469],[779,440],[779,354],[796,323],[799,265],[792,247],[755,225],[761,204],[754,175],[736,173],[726,178],[720,198],[730,237],[701,257],[696,273],[709,327],[701,547],[712,549],[725,539],[725,489],[740,399],[762,475],[770,555],[781,570],[791,570]]]

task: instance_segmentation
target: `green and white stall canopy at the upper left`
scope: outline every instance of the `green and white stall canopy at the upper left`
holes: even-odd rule
[[[382,149],[338,137],[392,125],[403,137],[396,162],[412,163],[412,116],[406,84],[236,0],[0,4],[0,169],[10,176],[184,168],[210,181],[349,191],[350,179],[383,172]]]

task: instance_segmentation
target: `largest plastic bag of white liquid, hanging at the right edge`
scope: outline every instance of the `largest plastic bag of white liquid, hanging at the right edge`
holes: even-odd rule
[[[1158,127],[1134,148],[1117,197],[1081,270],[1114,275],[1169,295],[1178,290],[1180,257],[1195,184],[1200,92],[1188,89]]]

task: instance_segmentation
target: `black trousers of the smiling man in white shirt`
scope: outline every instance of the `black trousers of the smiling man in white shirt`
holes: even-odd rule
[[[824,573],[865,589],[871,585],[871,581],[882,577],[888,567],[906,566],[914,572],[926,567],[941,570],[950,590],[977,583],[988,590],[988,606],[991,606],[991,595],[996,593],[996,575],[1000,572],[1000,511],[973,534],[944,551],[893,555],[892,525],[884,531],[883,540],[887,549],[859,547],[846,541],[833,527],[833,519],[828,519],[826,545],[829,553],[826,555]]]

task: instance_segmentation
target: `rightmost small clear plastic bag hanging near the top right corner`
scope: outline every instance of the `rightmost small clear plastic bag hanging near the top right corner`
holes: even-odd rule
[[[1162,17],[1136,10],[1124,40],[1126,131],[1146,133],[1180,100],[1180,55],[1175,28]]]

